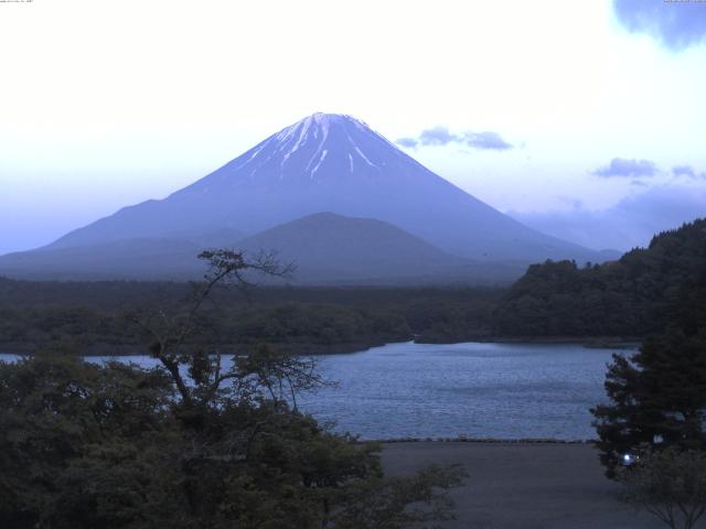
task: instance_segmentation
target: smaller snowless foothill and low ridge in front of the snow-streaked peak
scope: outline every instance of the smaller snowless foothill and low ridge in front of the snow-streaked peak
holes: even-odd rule
[[[47,248],[0,257],[0,272],[13,278],[52,280],[196,279],[206,248],[229,247],[250,258],[274,252],[295,264],[296,284],[498,284],[518,278],[516,264],[475,262],[447,253],[388,223],[332,213],[309,215],[235,244],[208,240],[118,239]],[[256,281],[282,280],[257,277]]]

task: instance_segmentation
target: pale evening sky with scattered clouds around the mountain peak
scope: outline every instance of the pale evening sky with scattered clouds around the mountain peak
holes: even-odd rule
[[[530,224],[657,192],[706,215],[706,3],[618,7],[0,3],[0,253],[163,197],[314,111],[391,140],[446,131],[405,149]],[[625,229],[629,247],[652,227]]]

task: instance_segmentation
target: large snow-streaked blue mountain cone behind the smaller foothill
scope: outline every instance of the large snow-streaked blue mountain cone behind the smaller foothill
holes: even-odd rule
[[[317,114],[163,201],[126,207],[51,248],[125,238],[255,234],[318,212],[391,223],[458,256],[488,261],[600,261],[535,231],[436,175],[363,122]]]

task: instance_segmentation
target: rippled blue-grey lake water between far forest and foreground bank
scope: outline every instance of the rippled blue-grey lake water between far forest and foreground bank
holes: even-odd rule
[[[612,353],[571,344],[388,344],[319,357],[320,371],[339,387],[299,404],[363,439],[593,439],[588,409],[606,401]]]

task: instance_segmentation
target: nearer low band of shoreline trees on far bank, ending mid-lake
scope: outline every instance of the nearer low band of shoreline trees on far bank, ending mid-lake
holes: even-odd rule
[[[139,310],[106,311],[86,306],[35,306],[0,310],[0,344],[6,350],[34,352],[61,344],[88,354],[145,353],[149,336]],[[386,311],[323,304],[204,311],[196,345],[215,343],[237,352],[269,343],[300,353],[324,353],[409,339],[404,317]]]

